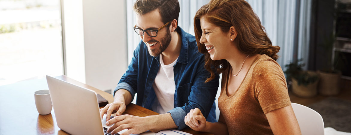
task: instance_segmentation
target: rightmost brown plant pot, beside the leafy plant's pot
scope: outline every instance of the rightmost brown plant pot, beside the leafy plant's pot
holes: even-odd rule
[[[327,73],[318,71],[320,76],[318,90],[321,95],[331,96],[340,93],[340,76],[338,73]]]

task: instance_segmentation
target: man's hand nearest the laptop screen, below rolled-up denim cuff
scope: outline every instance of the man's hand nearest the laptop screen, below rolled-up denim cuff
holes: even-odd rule
[[[104,114],[106,114],[106,121],[110,120],[113,110],[116,110],[116,115],[120,116],[126,110],[126,104],[120,101],[114,101],[110,104],[107,104],[104,108],[100,109],[101,120]]]

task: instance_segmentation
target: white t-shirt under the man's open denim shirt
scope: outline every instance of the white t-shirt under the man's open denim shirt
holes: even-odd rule
[[[174,92],[176,91],[176,83],[174,83],[173,66],[178,58],[169,65],[163,63],[162,54],[160,54],[160,69],[157,72],[155,81],[152,84],[157,100],[152,106],[152,110],[165,114],[174,107]]]

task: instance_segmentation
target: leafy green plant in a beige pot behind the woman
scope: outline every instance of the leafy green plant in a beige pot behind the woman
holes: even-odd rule
[[[285,74],[291,80],[292,93],[299,97],[313,97],[317,95],[319,76],[313,71],[302,70],[305,65],[301,60],[285,65]]]

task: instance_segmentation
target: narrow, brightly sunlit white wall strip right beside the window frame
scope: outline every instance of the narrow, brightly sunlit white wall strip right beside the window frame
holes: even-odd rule
[[[85,56],[82,0],[64,0],[66,75],[85,83]]]

